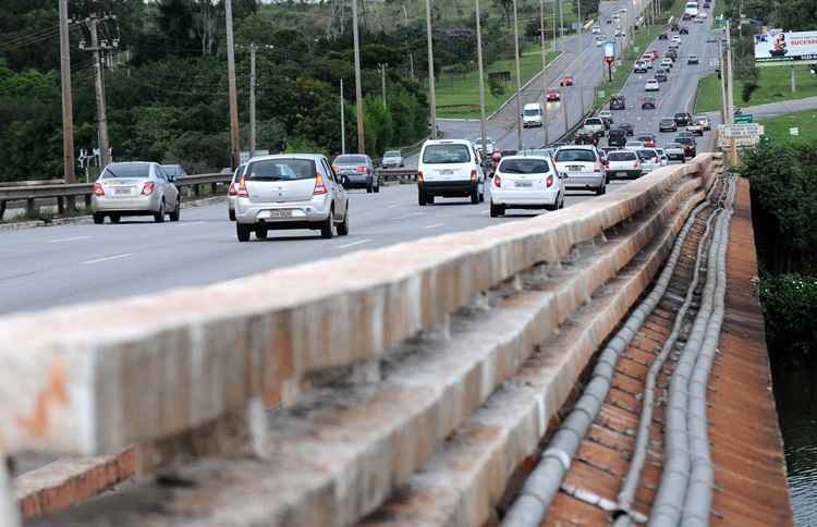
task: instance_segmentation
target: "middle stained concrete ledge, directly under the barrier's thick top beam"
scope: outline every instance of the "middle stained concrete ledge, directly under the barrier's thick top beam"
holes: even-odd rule
[[[48,525],[84,525],[102,512],[110,525],[121,526],[353,525],[407,481],[517,371],[558,321],[589,298],[589,287],[613,278],[649,244],[699,184],[698,179],[679,180],[626,234],[557,272],[550,289],[540,283],[487,310],[472,306],[451,318],[450,339],[430,334],[391,350],[380,383],[316,390],[277,413],[269,422],[267,459],[206,459],[174,476],[185,481],[182,489],[145,483],[49,518]],[[523,279],[528,286],[536,281],[533,273]],[[587,331],[597,333],[593,327]],[[582,367],[562,368],[552,388],[557,399],[566,396]],[[159,514],[156,503],[162,504]],[[188,503],[196,503],[193,515]]]

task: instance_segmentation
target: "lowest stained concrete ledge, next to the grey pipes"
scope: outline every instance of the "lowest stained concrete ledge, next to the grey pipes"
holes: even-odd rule
[[[496,506],[514,470],[537,451],[549,420],[564,404],[575,365],[587,365],[612,333],[621,314],[650,285],[675,235],[705,193],[691,196],[654,241],[622,274],[602,286],[559,334],[528,358],[520,372],[437,451],[392,498],[361,527],[480,526],[496,519]],[[592,331],[588,331],[592,328]],[[559,382],[559,378],[568,378]]]

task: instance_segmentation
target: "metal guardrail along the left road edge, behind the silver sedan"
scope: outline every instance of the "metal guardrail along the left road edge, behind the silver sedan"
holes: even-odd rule
[[[193,193],[200,194],[200,185],[209,184],[212,192],[218,192],[218,185],[229,183],[232,174],[193,174],[182,175],[175,180],[179,188],[192,187]],[[42,199],[56,199],[60,213],[64,213],[68,199],[84,198],[85,206],[90,207],[90,196],[94,192],[93,183],[72,184],[33,184],[24,182],[16,186],[0,186],[0,220],[3,219],[5,208],[10,201],[25,201],[26,212],[31,216],[38,211],[37,201]]]

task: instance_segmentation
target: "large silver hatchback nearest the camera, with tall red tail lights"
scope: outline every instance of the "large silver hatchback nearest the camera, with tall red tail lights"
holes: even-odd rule
[[[349,197],[327,159],[318,154],[259,156],[247,162],[235,196],[235,233],[319,230],[322,237],[349,234]]]

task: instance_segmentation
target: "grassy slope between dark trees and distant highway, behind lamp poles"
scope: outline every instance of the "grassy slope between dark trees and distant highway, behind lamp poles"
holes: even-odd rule
[[[559,53],[548,51],[548,64]],[[511,72],[511,82],[505,85],[504,93],[495,97],[490,93],[488,82],[485,83],[485,107],[487,114],[491,114],[516,91],[516,65],[513,59],[499,60],[488,65],[486,77],[491,72]],[[524,54],[520,59],[522,84],[525,85],[541,71],[541,56],[536,52]],[[436,86],[437,117],[444,119],[478,119],[479,118],[479,74],[477,72],[464,75],[443,74]],[[446,108],[453,107],[453,108]]]

